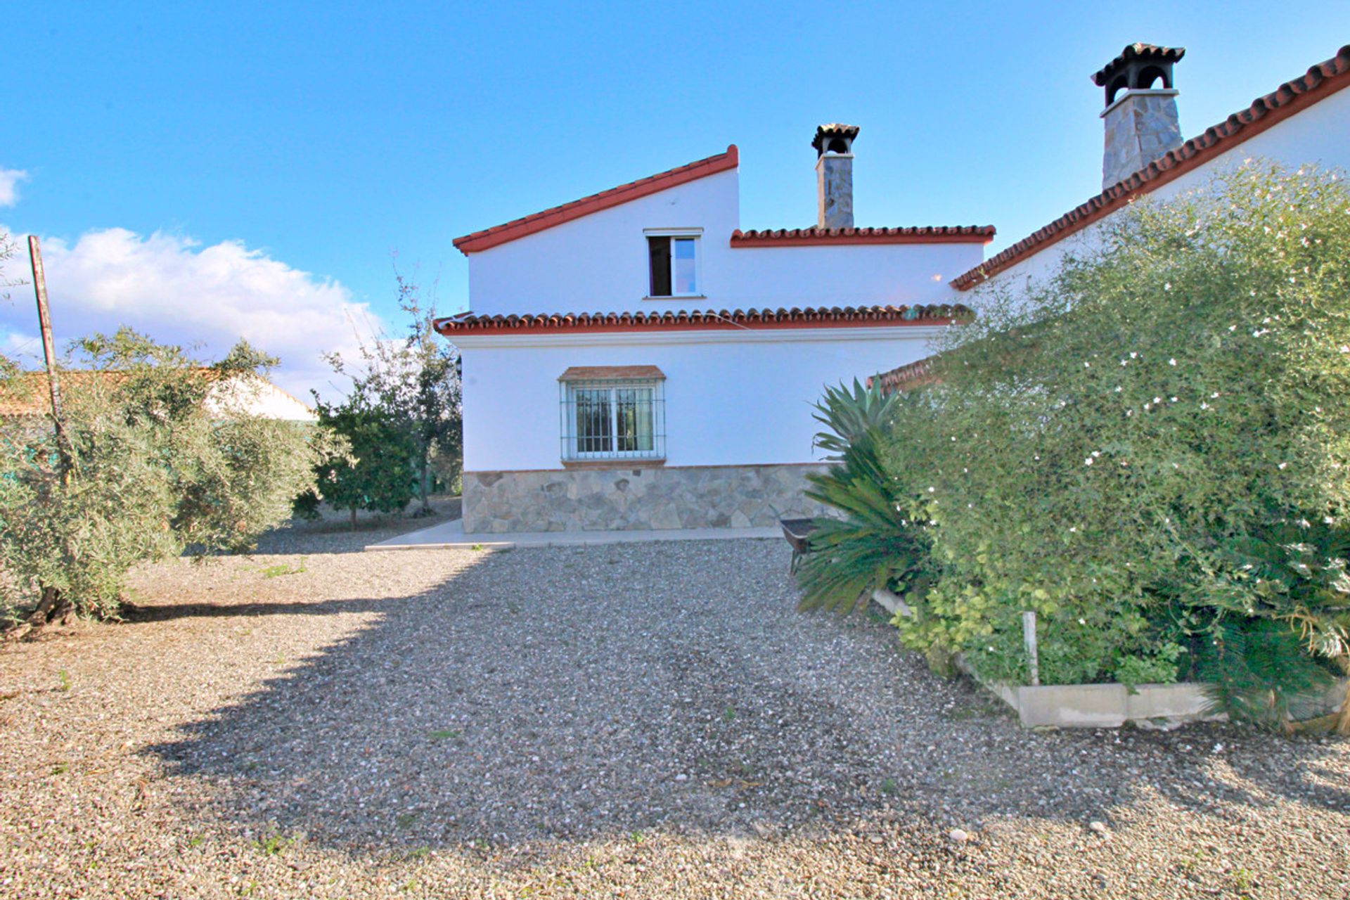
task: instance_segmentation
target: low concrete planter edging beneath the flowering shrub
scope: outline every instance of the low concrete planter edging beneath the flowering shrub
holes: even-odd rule
[[[910,609],[891,591],[872,595],[892,615],[910,615]],[[1019,687],[996,684],[976,675],[961,654],[956,667],[987,691],[1013,707],[1025,727],[1053,726],[1060,729],[1118,729],[1126,722],[1141,727],[1172,729],[1185,722],[1215,722],[1226,715],[1206,712],[1208,699],[1204,685],[1195,681],[1180,684],[1137,684],[1134,691],[1123,684],[1042,684]],[[1331,688],[1320,703],[1307,710],[1307,715],[1335,712],[1345,698],[1345,683]]]

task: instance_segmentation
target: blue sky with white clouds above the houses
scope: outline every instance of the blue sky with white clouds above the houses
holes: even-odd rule
[[[1126,43],[1187,47],[1191,136],[1350,40],[1350,4],[1269,3],[30,3],[5,20],[0,223],[50,247],[58,337],[128,321],[212,352],[238,325],[297,391],[352,322],[390,317],[393,252],[454,312],[455,236],[728,143],[741,225],[807,225],[821,121],[863,128],[860,225],[994,224],[996,251],[1099,190],[1088,76]],[[0,348],[31,352],[31,318],[26,290],[0,304]]]

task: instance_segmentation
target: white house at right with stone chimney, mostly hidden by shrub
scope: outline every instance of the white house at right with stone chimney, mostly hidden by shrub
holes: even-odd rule
[[[1102,193],[1007,250],[952,279],[948,302],[979,285],[1014,294],[1053,273],[1064,254],[1091,247],[1102,223],[1143,196],[1168,198],[1203,189],[1249,159],[1350,170],[1350,46],[1257,97],[1183,142],[1173,66],[1181,47],[1134,43],[1092,76],[1104,89]],[[905,389],[930,378],[927,360],[903,362],[880,376]]]

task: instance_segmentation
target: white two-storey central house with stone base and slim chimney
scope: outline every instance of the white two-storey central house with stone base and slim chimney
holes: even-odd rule
[[[806,514],[824,386],[926,354],[990,227],[855,228],[852,125],[819,217],[741,231],[726,152],[466,235],[464,530],[768,525]]]

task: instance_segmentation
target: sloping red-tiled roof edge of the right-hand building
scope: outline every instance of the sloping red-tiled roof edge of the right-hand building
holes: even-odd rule
[[[1346,86],[1350,86],[1350,45],[949,283],[957,290],[969,290]]]

